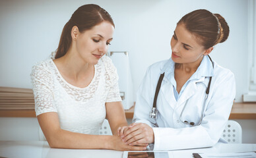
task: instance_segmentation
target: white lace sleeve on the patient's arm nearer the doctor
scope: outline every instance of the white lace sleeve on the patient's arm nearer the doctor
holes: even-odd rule
[[[106,68],[106,83],[110,89],[106,102],[121,101],[117,70],[109,57],[104,57],[103,62]]]

